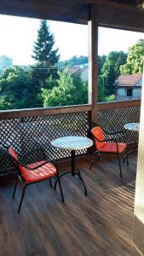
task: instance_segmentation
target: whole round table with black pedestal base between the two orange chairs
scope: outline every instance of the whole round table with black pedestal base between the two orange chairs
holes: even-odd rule
[[[67,136],[67,137],[58,137],[51,142],[51,145],[55,148],[60,148],[64,150],[71,151],[71,172],[62,172],[60,177],[66,175],[67,173],[72,173],[72,176],[77,175],[84,185],[85,195],[87,195],[87,189],[84,184],[84,179],[81,176],[81,172],[76,168],[76,150],[90,148],[93,145],[93,141],[88,137],[79,137],[79,136]],[[55,182],[55,189],[56,189]]]

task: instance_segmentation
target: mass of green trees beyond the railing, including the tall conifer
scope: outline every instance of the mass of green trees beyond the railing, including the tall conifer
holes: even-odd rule
[[[114,100],[112,86],[119,74],[143,70],[144,40],[130,47],[128,54],[112,51],[98,57],[98,101]],[[13,66],[0,75],[0,109],[43,108],[88,103],[88,82],[70,73],[71,67],[88,66],[87,56],[59,61],[59,49],[46,20],[41,20],[33,44],[35,65]]]

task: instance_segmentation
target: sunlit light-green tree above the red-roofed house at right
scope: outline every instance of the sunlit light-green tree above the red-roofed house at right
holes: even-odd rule
[[[120,67],[121,74],[141,74],[143,72],[144,39],[129,48],[126,64]]]

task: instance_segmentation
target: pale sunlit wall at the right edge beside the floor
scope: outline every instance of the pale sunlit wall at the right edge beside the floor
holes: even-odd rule
[[[135,186],[132,256],[144,255],[144,90],[141,93],[141,123]]]

